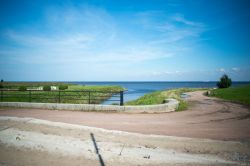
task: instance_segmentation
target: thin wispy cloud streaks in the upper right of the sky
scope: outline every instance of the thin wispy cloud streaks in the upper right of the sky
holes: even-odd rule
[[[186,19],[183,15],[169,14],[163,11],[146,11],[137,15],[136,24],[142,26],[145,33],[157,33],[148,42],[150,45],[176,49],[173,52],[183,54],[182,48],[191,50],[201,41],[201,34],[206,31],[206,26],[201,22]],[[192,47],[190,47],[192,45]],[[186,50],[185,50],[186,51]]]

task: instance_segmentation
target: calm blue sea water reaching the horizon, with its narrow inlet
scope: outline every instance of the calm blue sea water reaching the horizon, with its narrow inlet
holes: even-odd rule
[[[174,88],[215,88],[216,82],[74,82],[80,85],[119,85],[127,89],[124,102],[135,100],[146,93]],[[232,86],[250,84],[250,82],[233,82]],[[104,104],[111,104],[106,101]]]

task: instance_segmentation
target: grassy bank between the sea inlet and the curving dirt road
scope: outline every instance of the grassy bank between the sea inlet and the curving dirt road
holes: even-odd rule
[[[181,98],[181,94],[185,92],[191,92],[201,90],[198,88],[179,88],[171,90],[156,91],[149,94],[146,94],[140,97],[137,100],[129,101],[126,105],[153,105],[153,104],[162,104],[167,98],[174,98],[180,102],[177,111],[183,111],[187,109],[188,104]]]

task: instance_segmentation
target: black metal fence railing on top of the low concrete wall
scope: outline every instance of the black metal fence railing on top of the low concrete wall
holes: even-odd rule
[[[91,90],[13,90],[1,89],[0,101],[15,102],[51,102],[75,104],[100,104],[103,101],[118,102],[123,105],[124,91],[91,91]],[[111,99],[112,97],[112,99]]]

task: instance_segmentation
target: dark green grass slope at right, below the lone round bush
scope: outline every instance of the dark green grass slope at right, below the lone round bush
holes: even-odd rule
[[[250,105],[250,84],[224,89],[214,89],[211,91],[209,96],[222,98],[231,102]]]

